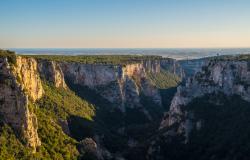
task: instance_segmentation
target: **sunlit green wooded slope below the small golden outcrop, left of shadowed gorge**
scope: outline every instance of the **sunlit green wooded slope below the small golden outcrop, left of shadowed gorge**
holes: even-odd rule
[[[94,106],[70,89],[56,88],[48,83],[44,83],[43,88],[45,95],[37,103],[44,112],[53,114],[53,117],[65,120],[74,115],[92,120],[95,115]]]

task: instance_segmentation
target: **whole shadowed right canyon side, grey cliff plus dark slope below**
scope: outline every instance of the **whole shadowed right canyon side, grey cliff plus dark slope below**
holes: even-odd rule
[[[236,135],[243,128],[249,133],[244,121],[250,106],[249,82],[248,60],[204,61],[200,71],[177,88],[159,126],[160,134],[151,142],[149,159],[245,159],[245,151],[236,148],[248,142]],[[200,151],[203,145],[206,147]],[[178,153],[176,146],[182,152]],[[223,149],[230,151],[222,153]]]

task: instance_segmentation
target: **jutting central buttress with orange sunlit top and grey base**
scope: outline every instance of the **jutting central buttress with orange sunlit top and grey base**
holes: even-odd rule
[[[140,95],[151,97],[152,100],[161,105],[161,97],[158,89],[147,79],[147,73],[159,73],[160,63],[146,61],[140,64],[129,64],[122,67],[122,77],[119,79],[122,105],[130,107],[140,106]]]

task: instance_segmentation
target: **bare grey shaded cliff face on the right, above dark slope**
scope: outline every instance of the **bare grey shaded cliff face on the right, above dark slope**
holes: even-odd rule
[[[238,95],[250,101],[250,64],[247,61],[208,61],[202,70],[180,86],[172,100],[170,111],[165,114],[160,129],[178,126],[177,134],[188,134],[201,123],[192,123],[192,113],[185,106],[193,99],[206,94],[223,93],[227,96]],[[171,131],[169,131],[170,133]]]

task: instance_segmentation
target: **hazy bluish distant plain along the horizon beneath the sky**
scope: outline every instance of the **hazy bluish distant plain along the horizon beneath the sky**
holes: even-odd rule
[[[197,59],[217,55],[250,54],[250,48],[9,48],[17,54],[45,55],[159,55]]]

